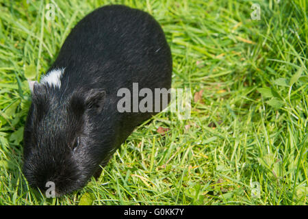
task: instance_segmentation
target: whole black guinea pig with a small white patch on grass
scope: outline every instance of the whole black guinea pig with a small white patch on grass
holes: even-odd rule
[[[100,165],[107,164],[133,129],[157,114],[119,110],[123,96],[118,90],[133,93],[133,83],[153,93],[169,90],[171,73],[170,47],[151,15],[107,5],[85,16],[40,83],[29,81],[32,103],[23,147],[29,185],[46,191],[51,181],[55,195],[62,196],[99,176]],[[153,108],[161,103],[153,101]]]

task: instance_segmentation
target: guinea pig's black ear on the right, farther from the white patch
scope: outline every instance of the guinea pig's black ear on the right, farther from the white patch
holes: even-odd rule
[[[86,94],[86,105],[88,109],[95,110],[100,113],[103,110],[106,92],[100,88],[94,88]]]

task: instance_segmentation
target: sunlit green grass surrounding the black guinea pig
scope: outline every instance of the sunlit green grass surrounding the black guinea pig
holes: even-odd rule
[[[94,205],[307,205],[306,0],[55,2],[47,21],[54,1],[0,0],[0,205],[77,205],[84,194]],[[165,112],[136,129],[98,181],[45,198],[21,173],[27,78],[39,79],[77,21],[109,3],[159,21],[172,87],[202,99],[188,120]]]

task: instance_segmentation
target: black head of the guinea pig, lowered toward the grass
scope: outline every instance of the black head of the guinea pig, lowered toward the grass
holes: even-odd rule
[[[105,91],[65,94],[36,82],[31,94],[23,146],[23,173],[29,185],[44,192],[52,182],[56,196],[83,188],[112,153],[102,145]]]

